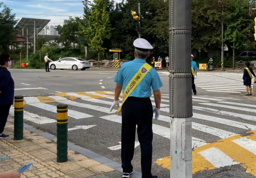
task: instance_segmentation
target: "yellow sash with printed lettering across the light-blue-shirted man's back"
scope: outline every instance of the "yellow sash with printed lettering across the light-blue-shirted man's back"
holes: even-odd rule
[[[125,103],[125,100],[130,96],[131,92],[134,91],[134,89],[138,86],[140,81],[145,77],[145,75],[148,73],[148,71],[152,69],[152,66],[150,66],[148,63],[143,64],[143,66],[138,70],[138,72],[131,78],[131,81],[128,83],[128,85],[125,88],[122,104],[119,107],[119,109],[116,111],[116,114],[121,112],[122,105]]]

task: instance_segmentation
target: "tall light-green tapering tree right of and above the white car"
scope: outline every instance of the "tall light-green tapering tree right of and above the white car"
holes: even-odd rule
[[[90,4],[90,6],[90,15],[86,22],[88,26],[79,23],[82,29],[79,34],[84,34],[89,39],[88,45],[92,51],[98,52],[99,60],[100,52],[105,50],[102,47],[103,40],[110,39],[112,28],[109,22],[106,0],[93,0],[93,4]]]

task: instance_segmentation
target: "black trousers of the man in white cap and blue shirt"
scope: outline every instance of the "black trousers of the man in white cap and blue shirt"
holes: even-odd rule
[[[152,165],[152,118],[153,109],[150,98],[129,97],[122,106],[122,168],[123,172],[133,170],[134,142],[137,125],[141,151],[142,178],[151,178]]]

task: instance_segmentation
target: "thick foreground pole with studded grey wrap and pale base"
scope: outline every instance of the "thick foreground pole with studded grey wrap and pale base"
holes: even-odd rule
[[[191,0],[169,0],[171,178],[192,178],[191,29]]]

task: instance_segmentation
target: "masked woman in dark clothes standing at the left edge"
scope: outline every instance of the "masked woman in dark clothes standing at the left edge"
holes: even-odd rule
[[[0,55],[0,139],[9,138],[3,134],[4,127],[9,115],[14,98],[14,81],[7,67],[12,65],[10,55],[3,53]]]

